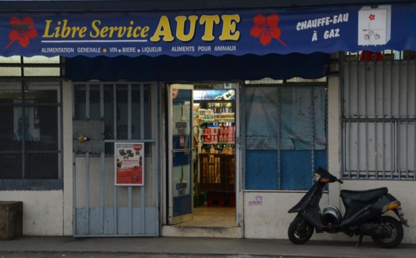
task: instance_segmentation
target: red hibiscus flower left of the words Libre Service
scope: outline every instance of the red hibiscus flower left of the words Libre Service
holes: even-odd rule
[[[10,43],[4,49],[7,49],[16,40],[19,40],[20,46],[26,47],[29,44],[29,38],[37,36],[31,17],[24,17],[23,20],[12,17],[10,26],[13,28],[13,31],[9,33]]]

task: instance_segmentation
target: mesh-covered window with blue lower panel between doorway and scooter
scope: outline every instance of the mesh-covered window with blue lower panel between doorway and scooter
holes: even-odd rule
[[[327,168],[327,83],[244,85],[245,190],[304,190]]]

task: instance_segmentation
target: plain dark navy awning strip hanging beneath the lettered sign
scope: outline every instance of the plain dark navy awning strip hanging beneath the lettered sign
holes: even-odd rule
[[[329,54],[288,55],[184,55],[115,58],[78,56],[67,58],[65,77],[73,81],[101,80],[260,80],[293,77],[322,78],[329,75]]]

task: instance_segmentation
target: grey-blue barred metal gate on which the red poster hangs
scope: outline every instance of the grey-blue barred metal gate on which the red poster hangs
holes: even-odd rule
[[[103,150],[74,146],[73,235],[157,236],[156,84],[74,83],[73,120],[104,124]],[[115,142],[145,143],[144,187],[114,185]]]

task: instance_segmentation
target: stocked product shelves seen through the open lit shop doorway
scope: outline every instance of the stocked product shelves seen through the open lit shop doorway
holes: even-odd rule
[[[208,206],[235,207],[235,101],[194,103],[198,130],[198,193]]]

